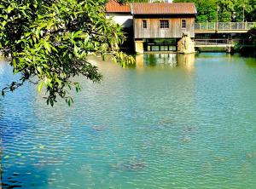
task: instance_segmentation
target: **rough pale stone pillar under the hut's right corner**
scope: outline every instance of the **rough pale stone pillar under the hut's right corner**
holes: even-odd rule
[[[177,53],[195,53],[195,44],[189,37],[189,33],[183,33],[183,37],[177,42]]]

